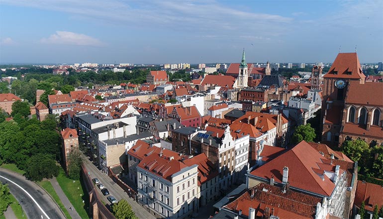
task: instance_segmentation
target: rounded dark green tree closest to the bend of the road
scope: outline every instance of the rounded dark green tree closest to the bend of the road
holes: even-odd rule
[[[56,161],[48,154],[36,154],[30,157],[25,168],[25,176],[31,181],[41,181],[59,175]]]

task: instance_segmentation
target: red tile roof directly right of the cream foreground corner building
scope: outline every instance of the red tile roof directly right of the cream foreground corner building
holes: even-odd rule
[[[184,164],[189,167],[193,164],[198,165],[198,186],[218,176],[218,171],[205,153],[184,160]]]

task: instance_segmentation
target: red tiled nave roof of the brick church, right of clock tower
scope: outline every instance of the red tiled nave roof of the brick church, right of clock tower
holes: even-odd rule
[[[383,107],[383,83],[359,84],[358,81],[351,81],[345,102],[346,104]]]

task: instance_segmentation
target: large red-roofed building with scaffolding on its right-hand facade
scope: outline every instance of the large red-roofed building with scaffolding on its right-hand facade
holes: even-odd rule
[[[310,159],[307,159],[307,158]],[[301,141],[282,155],[249,171],[247,188],[260,183],[284,186],[284,189],[300,192],[325,200],[325,214],[343,218],[346,202],[346,170],[324,158],[307,142]]]

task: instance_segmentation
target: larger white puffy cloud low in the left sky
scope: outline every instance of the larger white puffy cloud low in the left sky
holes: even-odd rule
[[[55,34],[48,38],[42,38],[41,43],[75,45],[75,46],[103,46],[104,44],[96,38],[87,36],[82,33],[74,33],[69,31],[56,31]]]

